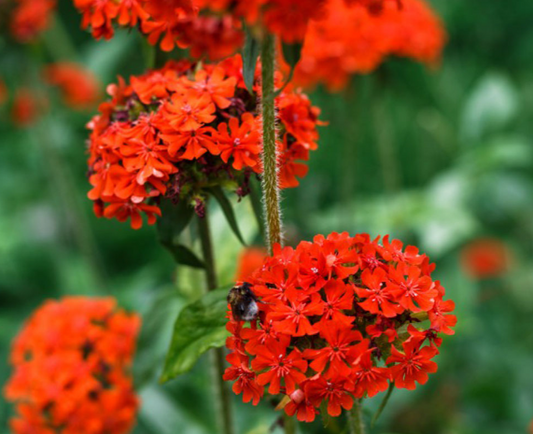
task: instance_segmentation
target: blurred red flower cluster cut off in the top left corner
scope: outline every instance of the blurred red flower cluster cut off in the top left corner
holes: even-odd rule
[[[56,0],[16,0],[9,19],[13,37],[21,43],[33,41],[50,25]]]

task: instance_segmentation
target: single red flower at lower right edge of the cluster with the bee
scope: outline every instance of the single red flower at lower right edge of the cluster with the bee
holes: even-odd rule
[[[415,381],[426,384],[428,373],[437,372],[437,364],[430,359],[438,354],[434,347],[420,348],[419,339],[408,339],[403,344],[403,353],[394,346],[391,347],[391,356],[387,364],[397,363],[390,368],[394,385],[400,389],[414,390]]]

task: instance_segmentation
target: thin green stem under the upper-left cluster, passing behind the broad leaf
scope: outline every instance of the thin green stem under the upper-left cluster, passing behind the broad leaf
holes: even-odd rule
[[[205,278],[207,291],[213,291],[218,287],[217,275],[215,270],[215,257],[213,253],[213,242],[211,239],[211,230],[207,214],[203,218],[198,218],[198,235],[202,245],[202,254],[205,263]],[[231,412],[231,396],[226,382],[223,380],[224,375],[224,349],[216,348],[211,353],[211,372],[213,376],[213,389],[215,403],[217,406],[217,425],[220,427],[220,433],[233,434],[233,417]]]

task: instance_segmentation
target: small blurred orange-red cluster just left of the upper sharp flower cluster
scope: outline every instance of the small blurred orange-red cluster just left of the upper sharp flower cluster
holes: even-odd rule
[[[43,75],[48,84],[60,89],[65,104],[74,109],[90,107],[100,96],[100,83],[94,74],[76,63],[48,65]]]

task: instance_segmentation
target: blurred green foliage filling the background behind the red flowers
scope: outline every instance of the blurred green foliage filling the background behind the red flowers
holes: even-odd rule
[[[372,433],[520,434],[533,419],[533,3],[434,0],[449,31],[442,66],[427,71],[391,59],[349,89],[312,101],[329,126],[298,189],[284,193],[292,242],[331,231],[390,233],[437,262],[457,303],[456,336],[445,339],[439,372],[415,392],[395,392]],[[37,83],[43,64],[78,60],[103,83],[143,70],[141,40],[109,42],[79,30],[61,2],[63,34],[44,44],[0,40],[0,77],[11,92]],[[157,385],[174,319],[203,288],[198,271],[175,269],[155,228],[97,219],[86,199],[84,125],[58,99],[28,129],[0,110],[0,384],[9,343],[43,300],[112,294],[141,312],[135,377],[143,400],[136,433],[216,432],[206,360]],[[244,238],[256,235],[247,201],[235,205]],[[221,283],[231,282],[240,245],[215,208]],[[461,249],[490,235],[513,253],[511,270],[474,281]],[[379,399],[367,404],[375,410]],[[269,432],[269,404],[235,398],[239,433]],[[0,401],[0,429],[10,407]],[[332,423],[328,431],[340,432]],[[324,432],[320,422],[302,432]]]

